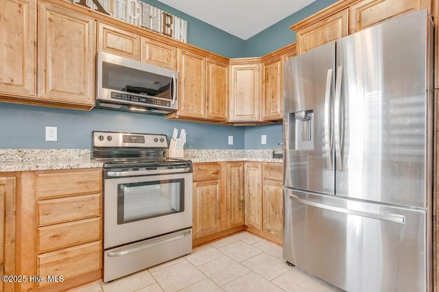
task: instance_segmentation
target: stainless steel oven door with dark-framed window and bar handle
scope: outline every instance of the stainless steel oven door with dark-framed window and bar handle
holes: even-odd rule
[[[104,249],[192,226],[192,173],[128,176],[104,181]]]

